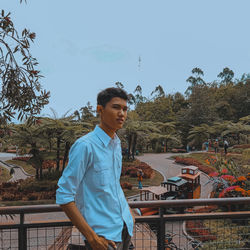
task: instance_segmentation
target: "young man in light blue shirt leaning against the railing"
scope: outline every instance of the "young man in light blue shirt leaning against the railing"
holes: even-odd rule
[[[87,249],[128,249],[133,218],[120,186],[121,145],[116,131],[127,117],[128,96],[107,88],[97,96],[100,124],[71,147],[56,202],[83,234]]]

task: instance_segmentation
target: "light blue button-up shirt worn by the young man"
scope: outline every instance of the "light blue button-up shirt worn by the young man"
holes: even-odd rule
[[[121,169],[120,139],[96,126],[71,147],[56,203],[75,201],[90,227],[108,240],[122,241],[124,222],[132,236],[133,218],[120,185]]]

